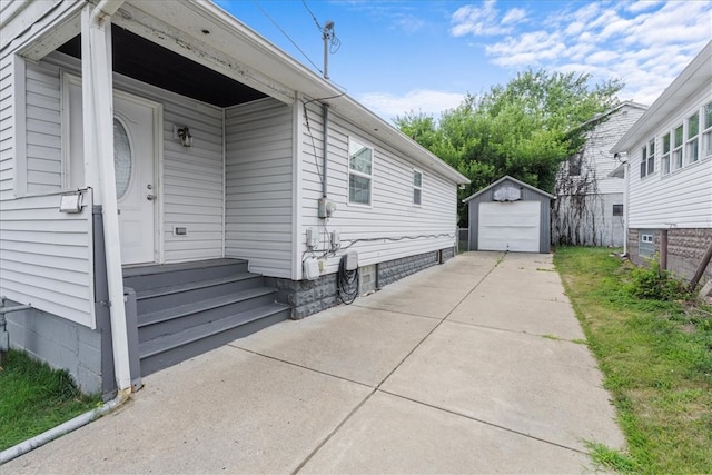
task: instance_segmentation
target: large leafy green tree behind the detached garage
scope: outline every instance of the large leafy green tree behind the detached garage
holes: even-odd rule
[[[510,175],[548,192],[554,191],[562,161],[576,154],[595,115],[617,103],[619,80],[591,86],[589,73],[544,70],[521,72],[506,86],[441,115],[395,119],[396,126],[472,180],[459,198]],[[461,226],[466,224],[464,205]]]

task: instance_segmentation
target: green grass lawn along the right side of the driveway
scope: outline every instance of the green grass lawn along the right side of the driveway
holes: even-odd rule
[[[614,396],[621,454],[592,444],[620,472],[712,473],[712,314],[685,300],[632,296],[632,267],[610,249],[560,248],[554,263]]]

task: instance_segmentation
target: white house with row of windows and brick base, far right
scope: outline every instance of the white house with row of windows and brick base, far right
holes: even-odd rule
[[[690,279],[712,245],[712,42],[613,147],[627,154],[627,254]],[[706,267],[712,279],[712,266]]]

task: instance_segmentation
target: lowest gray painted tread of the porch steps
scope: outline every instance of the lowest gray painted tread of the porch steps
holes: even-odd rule
[[[169,349],[177,348],[179,346],[197,342],[212,335],[217,335],[221,331],[226,331],[240,325],[246,325],[251,321],[266,318],[270,315],[288,310],[289,307],[283,304],[266,305],[251,310],[239,313],[237,315],[233,315],[230,317],[221,318],[219,320],[209,321],[197,327],[186,328],[172,335],[165,335],[158,338],[150,339],[148,342],[144,342],[139,345],[139,353],[141,355],[141,358],[148,358]]]

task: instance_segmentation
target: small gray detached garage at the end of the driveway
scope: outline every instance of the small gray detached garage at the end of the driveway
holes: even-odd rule
[[[463,200],[468,206],[468,250],[551,250],[553,195],[505,176]]]

